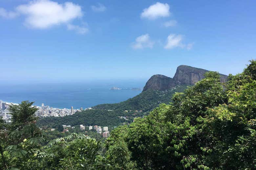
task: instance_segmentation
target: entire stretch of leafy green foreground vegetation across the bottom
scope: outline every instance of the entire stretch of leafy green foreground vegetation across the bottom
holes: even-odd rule
[[[170,101],[115,128],[104,144],[83,133],[50,140],[32,102],[12,105],[12,122],[0,120],[0,169],[256,169],[255,60],[225,84],[207,72]]]

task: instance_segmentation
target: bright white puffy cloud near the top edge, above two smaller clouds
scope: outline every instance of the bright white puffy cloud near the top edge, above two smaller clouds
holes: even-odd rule
[[[141,13],[140,17],[152,20],[159,17],[168,17],[170,16],[169,9],[170,6],[168,4],[162,4],[160,2],[157,2],[156,4],[151,5],[148,8],[145,8]]]

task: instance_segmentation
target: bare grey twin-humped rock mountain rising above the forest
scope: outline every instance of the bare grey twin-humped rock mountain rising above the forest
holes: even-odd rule
[[[194,85],[204,78],[204,73],[209,70],[199,69],[191,66],[181,65],[177,68],[173,78],[164,75],[153,75],[146,83],[143,91],[147,89],[167,90],[176,85]],[[227,81],[227,75],[221,75],[221,82]]]

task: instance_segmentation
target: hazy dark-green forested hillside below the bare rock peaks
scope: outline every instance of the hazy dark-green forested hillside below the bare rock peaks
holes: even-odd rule
[[[176,86],[165,91],[147,90],[134,98],[115,104],[100,104],[92,110],[84,110],[72,116],[65,117],[44,117],[37,121],[39,127],[57,127],[59,125],[98,125],[115,127],[126,123],[131,123],[134,117],[145,116],[152,109],[161,103],[168,104],[175,92],[182,92],[186,85]],[[127,110],[128,112],[124,112]],[[137,112],[137,111],[142,112]],[[120,119],[118,116],[128,116],[127,119]]]

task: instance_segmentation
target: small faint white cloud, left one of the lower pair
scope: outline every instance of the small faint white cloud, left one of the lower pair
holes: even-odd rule
[[[132,48],[134,49],[152,48],[154,46],[154,42],[150,40],[148,34],[137,37],[135,41],[132,43]]]

